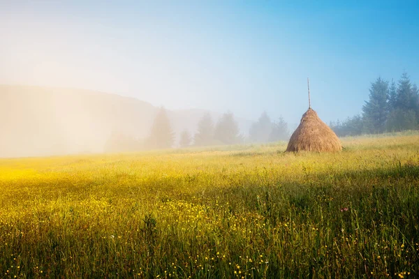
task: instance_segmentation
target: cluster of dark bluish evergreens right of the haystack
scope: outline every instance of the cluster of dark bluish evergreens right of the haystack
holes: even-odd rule
[[[403,73],[397,84],[378,77],[369,88],[362,114],[330,123],[339,136],[419,129],[419,90]]]

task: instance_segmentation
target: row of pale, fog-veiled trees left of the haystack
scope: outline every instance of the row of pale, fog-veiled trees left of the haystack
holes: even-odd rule
[[[223,144],[263,143],[288,140],[288,124],[282,117],[271,121],[266,112],[251,125],[249,137],[240,133],[238,123],[232,112],[222,114],[214,123],[210,113],[204,114],[198,121],[196,133],[182,131],[179,147],[214,146]],[[105,145],[105,151],[133,151],[142,149],[170,149],[175,145],[175,133],[170,126],[166,110],[161,107],[154,118],[149,137],[137,140],[122,133],[112,133]]]

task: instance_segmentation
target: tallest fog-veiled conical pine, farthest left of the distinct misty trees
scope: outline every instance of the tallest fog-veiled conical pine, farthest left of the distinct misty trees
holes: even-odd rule
[[[152,131],[148,139],[148,146],[154,149],[168,149],[172,147],[174,133],[166,110],[161,107],[154,119]]]

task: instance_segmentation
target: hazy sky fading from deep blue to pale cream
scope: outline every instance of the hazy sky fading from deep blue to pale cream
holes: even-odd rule
[[[360,113],[379,75],[419,82],[418,1],[314,2],[0,0],[0,84],[297,123],[307,76],[326,122]]]

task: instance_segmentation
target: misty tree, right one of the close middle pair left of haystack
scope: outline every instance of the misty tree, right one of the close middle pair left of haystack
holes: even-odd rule
[[[214,139],[223,144],[237,144],[242,142],[242,136],[239,135],[239,127],[231,112],[223,114],[221,119],[216,123]]]

